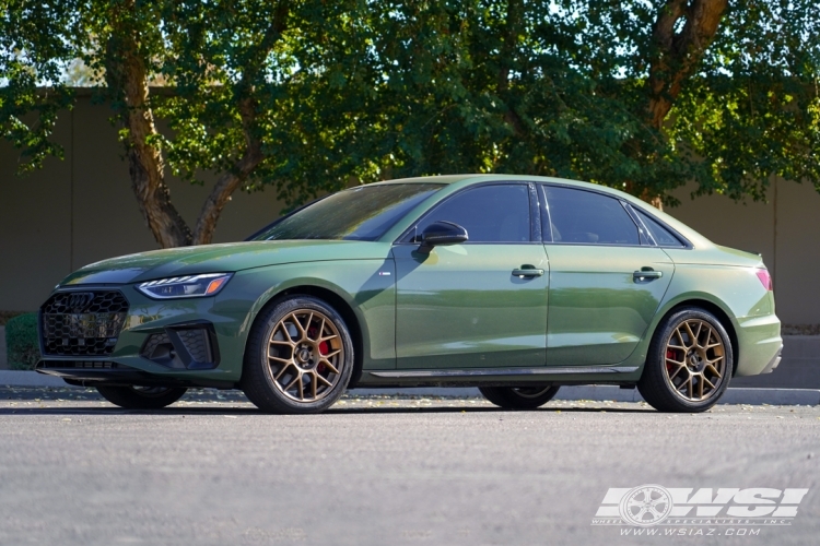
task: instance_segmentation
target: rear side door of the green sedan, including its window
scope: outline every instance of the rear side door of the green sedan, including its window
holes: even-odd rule
[[[546,186],[552,241],[547,365],[610,365],[643,339],[675,265],[618,199]]]

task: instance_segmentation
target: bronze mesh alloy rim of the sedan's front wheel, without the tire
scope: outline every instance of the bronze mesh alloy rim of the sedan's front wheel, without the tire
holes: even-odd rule
[[[268,363],[282,394],[296,402],[321,400],[341,377],[344,347],[339,330],[324,313],[297,309],[271,331]]]

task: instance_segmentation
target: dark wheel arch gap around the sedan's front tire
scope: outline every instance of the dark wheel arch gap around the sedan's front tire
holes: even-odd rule
[[[356,316],[353,307],[343,296],[341,296],[337,292],[333,292],[330,288],[324,286],[311,284],[300,284],[283,288],[271,295],[268,300],[258,309],[248,331],[250,332],[254,328],[256,328],[256,324],[259,322],[259,320],[261,320],[261,317],[268,309],[277,306],[283,299],[294,296],[311,296],[317,299],[321,299],[327,305],[332,307],[333,310],[336,310],[336,312],[341,316],[342,320],[344,320],[344,324],[350,330],[350,336],[353,341],[353,372],[350,376],[348,388],[350,389],[352,387],[355,387],[355,383],[359,382],[359,379],[362,376],[362,367],[364,363],[364,332],[362,330],[360,318]],[[248,335],[245,340],[245,354],[248,351],[249,342],[250,335]],[[243,361],[243,373],[244,371],[245,365]]]

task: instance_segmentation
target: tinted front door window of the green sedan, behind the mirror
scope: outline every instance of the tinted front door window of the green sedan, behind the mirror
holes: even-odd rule
[[[529,189],[504,185],[467,190],[427,214],[417,233],[443,219],[467,229],[470,242],[529,241]]]

